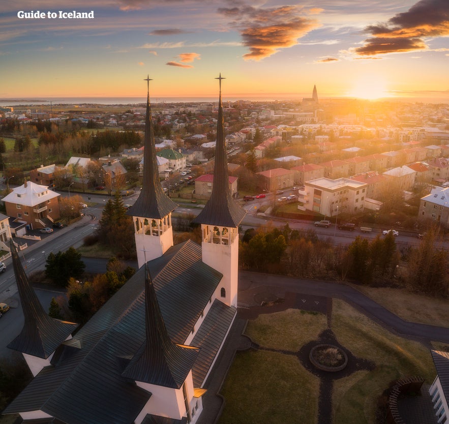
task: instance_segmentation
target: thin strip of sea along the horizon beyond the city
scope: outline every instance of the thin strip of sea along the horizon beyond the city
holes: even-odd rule
[[[242,96],[223,96],[223,102],[254,101],[254,102],[274,102],[274,101],[301,101],[303,98],[310,97],[310,93],[306,94],[274,94],[274,95],[242,95]],[[319,100],[328,101],[332,99],[344,99],[341,96],[323,96]],[[155,97],[150,99],[153,104],[158,103],[216,103],[215,97]],[[449,96],[447,97],[385,97],[376,99],[376,101],[390,102],[406,102],[406,103],[434,103],[449,104]],[[146,97],[39,97],[39,98],[15,98],[1,99],[0,107],[8,106],[35,106],[35,105],[139,105],[146,103]]]

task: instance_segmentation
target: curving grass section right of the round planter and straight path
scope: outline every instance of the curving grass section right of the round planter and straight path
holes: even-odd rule
[[[371,372],[334,382],[335,424],[374,424],[376,400],[391,381],[420,375],[431,384],[435,378],[429,349],[391,334],[342,300],[334,299],[333,331],[355,356],[376,364]]]

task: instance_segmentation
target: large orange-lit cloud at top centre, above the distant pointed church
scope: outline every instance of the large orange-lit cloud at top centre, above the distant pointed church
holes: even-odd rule
[[[249,53],[243,57],[260,60],[298,44],[298,38],[319,26],[318,21],[305,15],[316,14],[320,10],[300,6],[267,9],[242,6],[219,8],[218,12],[230,19],[230,25],[240,31],[244,46],[249,48]]]

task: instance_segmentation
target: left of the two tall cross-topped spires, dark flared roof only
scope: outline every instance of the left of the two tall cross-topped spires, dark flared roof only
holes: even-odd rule
[[[150,79],[147,78],[149,82]],[[162,190],[156,162],[156,147],[149,91],[146,98],[145,140],[143,150],[143,185],[136,202],[126,211],[133,217],[162,219],[177,207]]]

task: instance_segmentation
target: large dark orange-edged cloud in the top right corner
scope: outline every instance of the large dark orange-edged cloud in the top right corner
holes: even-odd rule
[[[372,37],[364,46],[352,49],[358,55],[428,50],[424,39],[449,36],[449,2],[421,0],[407,12],[396,14],[386,23],[369,25],[364,31]]]

